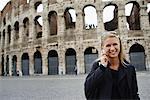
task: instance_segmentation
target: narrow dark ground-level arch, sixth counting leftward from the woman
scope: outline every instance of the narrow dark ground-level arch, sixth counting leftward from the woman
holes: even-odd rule
[[[17,56],[12,58],[12,76],[17,76]]]

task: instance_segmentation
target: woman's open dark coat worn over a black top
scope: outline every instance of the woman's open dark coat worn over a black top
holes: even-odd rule
[[[119,68],[118,91],[121,99],[140,100],[135,68],[129,63],[122,64]],[[91,72],[86,77],[84,84],[87,100],[111,100],[112,76],[109,67],[94,62]]]

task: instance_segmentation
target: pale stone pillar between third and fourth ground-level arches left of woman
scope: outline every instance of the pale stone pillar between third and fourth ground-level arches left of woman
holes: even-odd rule
[[[43,75],[48,75],[48,60],[47,60],[47,51],[46,49],[42,50],[42,71]]]

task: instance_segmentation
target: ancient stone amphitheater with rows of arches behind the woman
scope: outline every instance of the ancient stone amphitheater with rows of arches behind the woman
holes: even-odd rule
[[[101,34],[106,31],[118,33],[127,59],[136,70],[149,70],[148,2],[11,0],[0,13],[0,75],[88,73],[93,60],[99,57]],[[129,4],[132,5],[131,13],[126,15]],[[40,7],[41,11],[38,10]],[[95,10],[88,14],[88,7]],[[109,7],[114,8],[114,16],[104,22],[103,12]],[[87,24],[88,15],[95,15],[95,19],[89,20],[97,23]]]

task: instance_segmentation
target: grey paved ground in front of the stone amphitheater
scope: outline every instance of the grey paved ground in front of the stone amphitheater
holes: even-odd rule
[[[85,100],[86,75],[0,77],[0,100]],[[150,72],[137,72],[141,100],[150,99]]]

